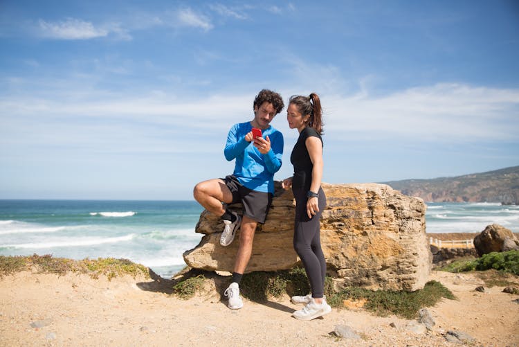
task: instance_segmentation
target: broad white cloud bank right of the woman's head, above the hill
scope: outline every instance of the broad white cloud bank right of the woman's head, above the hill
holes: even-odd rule
[[[519,140],[519,89],[440,83],[375,98],[363,90],[329,96],[323,107],[336,132],[451,143]]]

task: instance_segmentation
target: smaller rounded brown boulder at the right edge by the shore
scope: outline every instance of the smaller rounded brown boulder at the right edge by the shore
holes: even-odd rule
[[[510,229],[499,224],[487,225],[484,231],[474,238],[474,248],[478,256],[491,252],[519,249],[519,241]]]

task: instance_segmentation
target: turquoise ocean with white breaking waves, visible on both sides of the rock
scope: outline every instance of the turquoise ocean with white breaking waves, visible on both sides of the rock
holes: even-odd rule
[[[428,233],[477,233],[493,223],[519,233],[519,206],[428,203]],[[164,278],[179,272],[203,208],[194,201],[0,200],[0,255],[125,258]]]

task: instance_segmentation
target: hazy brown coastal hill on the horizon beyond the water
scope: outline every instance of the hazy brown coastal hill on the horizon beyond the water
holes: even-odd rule
[[[425,202],[500,202],[519,204],[519,166],[435,179],[382,182]]]

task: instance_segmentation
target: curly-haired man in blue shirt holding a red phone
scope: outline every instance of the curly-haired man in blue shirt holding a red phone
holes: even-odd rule
[[[225,291],[228,307],[233,310],[244,305],[239,297],[239,283],[251,259],[257,223],[265,222],[271,206],[274,173],[281,168],[283,135],[270,123],[283,107],[280,94],[268,89],[260,91],[253,103],[253,120],[233,125],[227,136],[224,154],[228,161],[235,160],[233,175],[200,182],[193,190],[199,204],[224,220],[222,246],[233,242],[240,229],[233,281]],[[253,134],[253,128],[260,129],[261,136]],[[243,205],[243,217],[227,208],[237,202]]]

